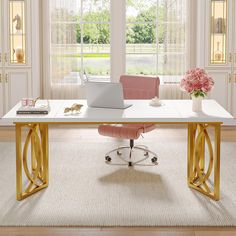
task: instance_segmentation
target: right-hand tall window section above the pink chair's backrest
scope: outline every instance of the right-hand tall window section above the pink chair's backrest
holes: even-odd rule
[[[126,1],[126,72],[178,82],[186,70],[186,0]]]

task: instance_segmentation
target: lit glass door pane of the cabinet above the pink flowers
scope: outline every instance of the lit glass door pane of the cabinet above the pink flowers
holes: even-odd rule
[[[211,0],[211,64],[226,64],[227,0]]]

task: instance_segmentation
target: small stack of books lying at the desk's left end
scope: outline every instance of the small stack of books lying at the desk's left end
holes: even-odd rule
[[[34,107],[21,106],[17,111],[17,115],[47,115],[50,112],[49,104],[36,104]]]

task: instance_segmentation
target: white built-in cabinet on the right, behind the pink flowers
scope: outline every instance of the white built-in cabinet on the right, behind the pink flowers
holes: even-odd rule
[[[236,117],[236,1],[198,1],[198,66],[213,77],[210,98]]]

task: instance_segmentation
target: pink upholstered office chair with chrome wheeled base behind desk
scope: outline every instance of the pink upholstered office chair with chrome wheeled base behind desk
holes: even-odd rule
[[[160,80],[158,77],[141,77],[141,76],[128,76],[122,75],[120,82],[123,86],[124,99],[152,99],[159,96]],[[128,108],[129,109],[129,108]],[[137,165],[140,162],[149,158],[149,154],[152,154],[151,163],[149,165],[157,165],[157,155],[150,151],[146,146],[139,145],[134,146],[134,140],[138,139],[142,133],[147,133],[156,128],[155,124],[124,124],[122,126],[115,125],[100,125],[98,132],[100,135],[129,139],[130,145],[125,147],[118,147],[109,151],[105,155],[107,164],[112,164],[111,154],[116,152],[117,156],[129,166]],[[122,156],[122,150],[129,149],[129,157],[125,159]],[[144,152],[144,158],[133,162],[132,152],[133,150],[140,150]]]

